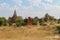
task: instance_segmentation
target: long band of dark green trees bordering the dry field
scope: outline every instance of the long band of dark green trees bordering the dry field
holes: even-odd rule
[[[50,16],[48,13],[45,14],[43,18],[38,17],[28,17],[23,19],[22,17],[11,18],[9,17],[6,19],[5,17],[0,17],[0,26],[26,26],[26,25],[48,25],[53,23],[60,23],[60,19],[56,19],[53,16]]]

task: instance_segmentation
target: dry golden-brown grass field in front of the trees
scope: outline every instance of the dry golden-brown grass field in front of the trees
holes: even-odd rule
[[[2,26],[0,27],[0,40],[59,40],[59,38],[49,38],[49,36],[54,36],[53,31],[44,27]]]

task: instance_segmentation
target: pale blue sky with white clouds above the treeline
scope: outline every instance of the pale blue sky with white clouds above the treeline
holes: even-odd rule
[[[60,18],[60,0],[0,0],[0,17],[11,17],[14,10],[23,18],[41,18],[46,13]]]

